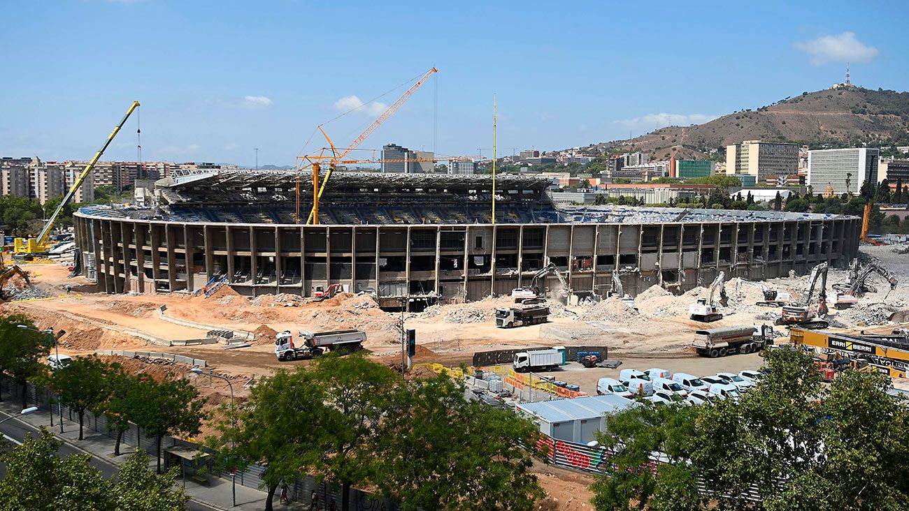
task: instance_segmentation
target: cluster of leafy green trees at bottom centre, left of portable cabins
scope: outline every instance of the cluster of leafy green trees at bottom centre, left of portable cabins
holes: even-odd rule
[[[325,356],[256,384],[224,408],[211,442],[228,468],[258,463],[275,489],[306,473],[371,486],[402,509],[530,510],[543,496],[528,471],[534,424],[464,398],[452,378],[405,380],[359,354]]]

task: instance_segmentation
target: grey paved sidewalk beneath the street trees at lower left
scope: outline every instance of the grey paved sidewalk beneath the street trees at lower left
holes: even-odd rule
[[[5,412],[9,415],[18,415],[21,411],[19,407],[20,403],[17,398],[12,400],[4,400],[0,403],[0,411]],[[113,465],[119,465],[123,463],[127,457],[132,455],[135,452],[135,446],[121,444],[120,445],[120,456],[114,456],[114,438],[108,438],[106,435],[97,433],[88,427],[84,429],[84,438],[79,440],[79,423],[78,421],[70,421],[64,418],[64,433],[60,433],[60,424],[58,422],[58,417],[54,417],[54,427],[50,427],[51,418],[50,414],[45,410],[38,410],[37,412],[18,417],[18,420],[25,422],[32,427],[47,427],[55,437],[58,437],[61,440],[64,440],[71,447],[83,451],[87,454],[90,454],[94,457],[97,457],[101,460],[104,460],[107,463]],[[16,419],[13,419],[9,422],[14,422]],[[86,425],[87,426],[87,425]],[[162,451],[164,447],[162,447]],[[151,467],[155,468],[155,453],[149,453],[152,457]],[[241,510],[241,511],[261,511],[265,509],[265,496],[267,494],[264,491],[257,490],[248,486],[242,486],[240,484],[236,485],[236,506],[231,506],[231,481],[229,479],[224,479],[221,477],[210,477],[211,484],[209,486],[202,486],[195,481],[187,480],[185,483],[186,496],[189,496],[190,499],[195,502],[209,506],[215,509],[223,510]],[[177,478],[177,484],[183,485],[183,480],[179,477]],[[275,494],[274,506],[276,510],[283,509],[292,509],[298,510],[303,509],[304,506],[301,503],[295,503],[291,506],[284,506],[278,504],[278,494]]]

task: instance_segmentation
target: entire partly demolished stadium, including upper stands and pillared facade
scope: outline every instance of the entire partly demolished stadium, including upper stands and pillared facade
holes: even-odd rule
[[[297,221],[293,172],[186,172],[155,183],[153,208],[75,213],[80,270],[110,293],[245,295],[339,284],[385,308],[480,300],[526,286],[554,263],[575,291],[654,284],[690,290],[719,271],[764,280],[858,253],[861,219],[776,211],[561,207],[549,182],[500,176],[336,172],[318,225]],[[304,192],[303,196],[306,195]],[[303,201],[303,221],[311,201]],[[554,276],[545,290],[559,287]]]

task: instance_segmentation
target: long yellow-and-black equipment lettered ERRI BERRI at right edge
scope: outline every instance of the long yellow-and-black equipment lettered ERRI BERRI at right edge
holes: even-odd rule
[[[906,378],[909,371],[909,338],[904,334],[853,335],[793,327],[789,338],[794,346],[867,362],[892,378]]]

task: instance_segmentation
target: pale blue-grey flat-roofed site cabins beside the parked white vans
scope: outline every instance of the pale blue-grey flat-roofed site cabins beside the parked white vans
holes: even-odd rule
[[[633,407],[635,401],[614,394],[587,398],[520,403],[518,414],[533,420],[540,432],[556,440],[586,444],[606,430],[606,415]]]

